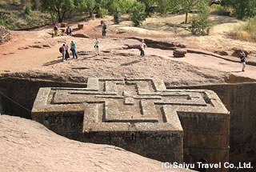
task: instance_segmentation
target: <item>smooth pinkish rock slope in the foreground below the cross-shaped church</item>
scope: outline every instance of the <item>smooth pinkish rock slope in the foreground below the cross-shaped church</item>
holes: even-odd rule
[[[5,172],[162,171],[161,162],[115,146],[63,138],[38,122],[7,115],[0,115],[0,155]]]

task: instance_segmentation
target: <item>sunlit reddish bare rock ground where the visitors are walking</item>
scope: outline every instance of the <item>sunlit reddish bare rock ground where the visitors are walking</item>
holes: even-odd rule
[[[175,18],[183,18],[183,16]],[[138,49],[127,48],[139,44],[137,39],[130,37],[140,37],[151,40],[161,39],[162,42],[181,43],[186,48],[196,48],[198,51],[206,50],[210,53],[216,50],[226,50],[230,53],[230,50],[237,45],[253,50],[254,43],[226,38],[227,28],[223,23],[215,26],[210,36],[193,37],[183,32],[173,34],[166,30],[136,28],[130,26],[131,23],[127,21],[118,26],[111,22],[112,18],[105,19],[108,23],[108,38],[101,38],[101,26],[99,26],[100,20],[98,19],[84,22],[85,26],[82,30],[77,30],[76,25],[71,25],[74,34],[86,34],[90,38],[69,36],[52,38],[53,30],[51,27],[33,31],[11,31],[12,40],[0,45],[2,50],[0,53],[0,73],[54,74],[66,80],[92,76],[155,77],[172,85],[230,82],[230,75],[234,76],[232,82],[235,82],[235,76],[250,78],[250,81],[256,79],[255,66],[247,65],[246,72],[242,73],[239,59],[231,56],[218,58],[209,54],[188,53],[186,58],[173,58],[172,50],[149,47],[146,49],[146,59],[142,60]],[[151,20],[156,20],[160,24],[164,21],[160,18]],[[143,26],[148,26],[150,22],[152,21],[147,19]],[[226,24],[228,28],[231,27],[230,23],[232,22],[234,25],[238,23],[232,20]],[[160,25],[159,23],[158,25]],[[220,28],[225,28],[225,30]],[[98,57],[94,56],[95,37],[99,37],[101,41],[100,56]],[[62,54],[58,52],[58,48],[65,41],[70,44],[71,40],[77,43],[79,58],[77,60],[71,57],[68,61],[61,62]],[[251,56],[249,61],[255,62],[256,60]],[[246,81],[246,79],[244,80]]]

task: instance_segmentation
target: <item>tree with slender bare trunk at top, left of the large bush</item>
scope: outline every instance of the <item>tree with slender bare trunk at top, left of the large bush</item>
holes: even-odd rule
[[[176,10],[183,12],[186,14],[185,24],[187,23],[188,14],[190,11],[194,10],[194,8],[198,5],[198,2],[202,2],[206,0],[174,0],[174,6]]]

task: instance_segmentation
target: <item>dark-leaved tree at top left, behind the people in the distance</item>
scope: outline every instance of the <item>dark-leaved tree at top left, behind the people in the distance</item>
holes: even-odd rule
[[[58,22],[63,22],[66,14],[74,10],[74,0],[41,0],[42,10],[50,12],[51,16],[57,16]]]

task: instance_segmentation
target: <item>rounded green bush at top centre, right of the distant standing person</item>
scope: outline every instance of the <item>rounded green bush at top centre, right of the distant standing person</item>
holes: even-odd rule
[[[145,8],[143,3],[134,2],[134,6],[130,10],[130,19],[134,22],[134,26],[138,26],[146,20]]]

